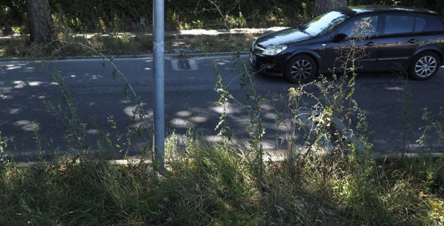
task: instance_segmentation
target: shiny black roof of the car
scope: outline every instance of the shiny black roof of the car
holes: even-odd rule
[[[416,12],[425,14],[437,14],[435,11],[406,6],[393,6],[393,5],[360,5],[360,6],[348,6],[335,9],[349,15],[366,14],[372,12]]]

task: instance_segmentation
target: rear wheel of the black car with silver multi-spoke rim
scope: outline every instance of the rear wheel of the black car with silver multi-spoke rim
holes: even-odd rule
[[[413,58],[408,74],[414,80],[427,80],[436,75],[440,65],[440,57],[437,54],[424,52]]]

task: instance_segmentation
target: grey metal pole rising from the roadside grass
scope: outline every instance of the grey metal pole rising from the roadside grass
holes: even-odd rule
[[[165,172],[165,18],[164,0],[153,1],[154,154],[157,172]]]

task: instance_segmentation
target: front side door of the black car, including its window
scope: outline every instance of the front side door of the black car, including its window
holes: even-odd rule
[[[333,68],[373,69],[378,50],[379,15],[363,15],[353,18],[336,28],[326,43],[325,65]],[[338,40],[338,35],[346,35]],[[344,36],[344,35],[343,35]]]

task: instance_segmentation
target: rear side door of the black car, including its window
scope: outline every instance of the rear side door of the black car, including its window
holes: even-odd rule
[[[384,15],[376,67],[407,67],[408,59],[424,39],[426,19],[414,15]],[[398,66],[399,65],[399,66]]]

